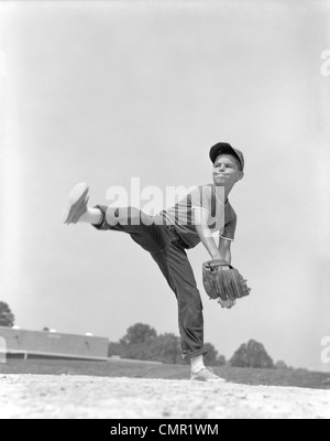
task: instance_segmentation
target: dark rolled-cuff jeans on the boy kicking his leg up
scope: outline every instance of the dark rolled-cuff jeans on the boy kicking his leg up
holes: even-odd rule
[[[147,216],[132,207],[127,208],[127,213],[103,205],[97,205],[97,208],[103,216],[100,225],[94,226],[101,230],[129,234],[136,244],[151,254],[175,293],[183,359],[206,354],[200,293],[185,244],[177,235],[175,227],[157,222],[161,219],[158,216]]]

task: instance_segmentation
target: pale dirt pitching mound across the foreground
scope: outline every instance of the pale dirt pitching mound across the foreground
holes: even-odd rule
[[[0,418],[329,419],[330,391],[187,380],[2,375]]]

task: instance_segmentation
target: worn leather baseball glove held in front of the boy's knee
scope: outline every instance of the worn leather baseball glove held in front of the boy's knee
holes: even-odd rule
[[[226,260],[209,260],[202,266],[202,282],[210,299],[219,299],[222,308],[232,308],[237,299],[251,292],[246,280]]]

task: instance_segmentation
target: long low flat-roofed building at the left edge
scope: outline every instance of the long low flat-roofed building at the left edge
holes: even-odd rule
[[[0,326],[0,338],[7,355],[99,359],[108,358],[109,340],[89,335],[26,331]]]

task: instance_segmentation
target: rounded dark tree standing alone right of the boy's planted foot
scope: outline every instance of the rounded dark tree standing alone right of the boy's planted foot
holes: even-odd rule
[[[251,340],[243,344],[230,359],[231,366],[274,368],[273,359],[261,343]]]

